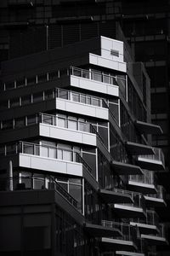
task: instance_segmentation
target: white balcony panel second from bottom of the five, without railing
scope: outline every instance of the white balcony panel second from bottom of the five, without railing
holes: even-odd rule
[[[51,137],[74,143],[81,143],[90,146],[97,146],[97,139],[94,133],[71,130],[54,125],[40,124],[40,136]]]

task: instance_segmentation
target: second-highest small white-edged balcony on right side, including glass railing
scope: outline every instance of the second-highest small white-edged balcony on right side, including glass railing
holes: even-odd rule
[[[156,193],[156,177],[154,172],[143,170],[143,175],[130,175],[127,186],[133,191],[142,194]]]

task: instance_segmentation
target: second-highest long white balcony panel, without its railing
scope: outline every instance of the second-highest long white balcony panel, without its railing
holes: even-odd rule
[[[119,87],[114,84],[105,84],[99,81],[79,78],[73,75],[71,75],[71,86],[85,90],[93,90],[111,96],[119,96]]]

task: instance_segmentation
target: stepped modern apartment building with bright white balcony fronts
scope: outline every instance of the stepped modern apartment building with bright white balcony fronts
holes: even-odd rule
[[[167,246],[150,79],[98,37],[4,61],[2,255],[149,256]]]

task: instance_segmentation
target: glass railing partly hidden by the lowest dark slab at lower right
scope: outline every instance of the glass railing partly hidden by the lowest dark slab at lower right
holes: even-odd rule
[[[130,224],[117,223],[108,220],[102,220],[102,226],[120,231],[120,236],[114,236],[114,239],[133,241],[135,244],[137,244],[138,232],[136,227],[133,227]]]

